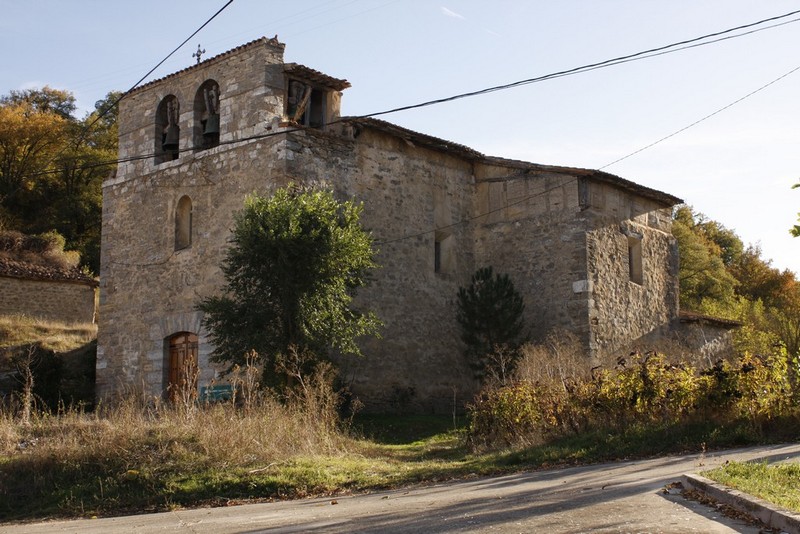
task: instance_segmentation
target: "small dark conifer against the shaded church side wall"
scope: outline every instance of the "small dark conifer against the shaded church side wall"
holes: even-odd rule
[[[513,367],[525,325],[524,311],[522,296],[511,279],[507,274],[495,274],[492,267],[478,269],[470,285],[458,289],[456,320],[476,378],[506,374],[498,366]],[[505,361],[508,355],[510,362]]]

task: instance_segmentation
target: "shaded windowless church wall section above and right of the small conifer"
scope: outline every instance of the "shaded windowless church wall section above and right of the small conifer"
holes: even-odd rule
[[[586,235],[577,178],[513,167],[487,168],[484,175],[477,211],[489,215],[477,229],[478,266],[511,277],[525,299],[533,340],[556,328],[582,337],[587,305],[576,287],[586,280]]]

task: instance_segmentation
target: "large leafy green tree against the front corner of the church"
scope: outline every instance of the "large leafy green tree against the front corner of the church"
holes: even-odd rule
[[[361,212],[360,204],[322,190],[290,186],[249,196],[222,263],[224,294],[198,306],[212,358],[243,364],[255,350],[265,383],[274,385],[285,378],[276,368],[287,361],[313,361],[331,350],[360,355],[356,339],[380,327],[373,313],[352,307],[376,267]]]

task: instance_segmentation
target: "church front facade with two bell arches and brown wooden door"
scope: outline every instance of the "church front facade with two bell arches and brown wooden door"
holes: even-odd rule
[[[258,39],[120,102],[122,163],[103,184],[100,397],[215,379],[196,304],[221,286],[233,214],[246,194],[297,180],[282,132],[325,130],[350,85],[283,51]]]

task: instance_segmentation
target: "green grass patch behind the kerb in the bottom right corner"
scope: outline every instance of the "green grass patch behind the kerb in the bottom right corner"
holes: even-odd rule
[[[729,462],[703,475],[800,513],[800,464]]]

